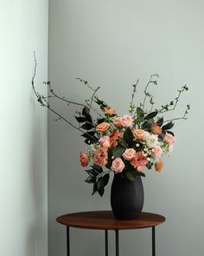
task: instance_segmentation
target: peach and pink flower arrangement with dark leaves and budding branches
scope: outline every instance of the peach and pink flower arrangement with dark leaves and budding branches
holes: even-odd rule
[[[36,60],[35,60],[36,69]],[[130,108],[126,115],[119,115],[115,108],[110,107],[106,102],[96,96],[97,89],[93,89],[89,83],[78,78],[89,89],[92,89],[91,99],[86,100],[86,104],[68,101],[61,97],[51,88],[50,82],[45,82],[49,88],[49,95],[45,97],[35,90],[35,75],[32,79],[32,86],[35,95],[41,106],[47,107],[55,115],[57,120],[67,121],[69,125],[80,131],[81,136],[85,138],[87,145],[86,152],[80,152],[80,165],[91,167],[86,169],[88,174],[87,183],[93,185],[92,194],[104,194],[110,173],[120,173],[126,179],[133,181],[137,176],[145,176],[147,169],[155,167],[156,172],[163,169],[163,155],[169,154],[173,150],[175,135],[171,131],[174,127],[173,121],[183,119],[188,115],[189,105],[181,117],[171,120],[164,120],[163,115],[166,112],[175,110],[179,98],[184,91],[188,90],[187,85],[178,90],[178,95],[174,101],[171,101],[161,108],[152,110],[155,102],[153,95],[150,95],[149,87],[151,84],[157,84],[158,75],[151,75],[149,82],[144,89],[143,102],[136,106],[134,98],[137,92],[137,83],[133,85]],[[82,108],[75,115],[79,126],[67,120],[57,113],[48,102],[48,98],[55,98],[62,102],[75,104]],[[145,103],[149,102],[150,110],[147,110]],[[92,107],[92,103],[99,106],[101,113]],[[93,119],[91,112],[97,113],[97,118]],[[105,170],[104,170],[105,167]]]

